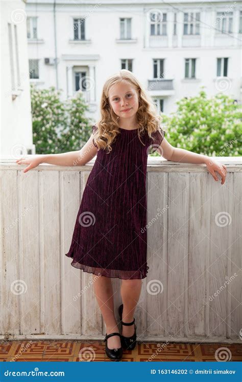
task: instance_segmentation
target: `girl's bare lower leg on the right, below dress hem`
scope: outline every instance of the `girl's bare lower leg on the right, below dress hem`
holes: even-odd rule
[[[139,301],[139,295],[141,291],[142,280],[122,280],[122,286],[120,293],[124,304],[122,321],[132,322],[134,319],[134,311]],[[122,327],[122,335],[125,337],[131,337],[134,334],[134,325]]]

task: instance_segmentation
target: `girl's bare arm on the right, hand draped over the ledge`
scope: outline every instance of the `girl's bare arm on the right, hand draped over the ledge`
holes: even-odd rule
[[[212,175],[212,177],[216,181],[219,180],[215,174],[216,171],[221,175],[221,184],[224,184],[227,175],[227,168],[225,165],[222,165],[220,162],[217,162],[211,157],[173,147],[166,141],[165,138],[161,142],[160,149],[161,155],[167,160],[172,160],[174,162],[195,163],[196,165],[205,163],[208,172]]]

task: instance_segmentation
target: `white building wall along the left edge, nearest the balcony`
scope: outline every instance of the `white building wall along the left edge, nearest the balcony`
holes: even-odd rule
[[[15,160],[34,154],[27,14],[23,0],[2,1],[1,7],[1,157]]]

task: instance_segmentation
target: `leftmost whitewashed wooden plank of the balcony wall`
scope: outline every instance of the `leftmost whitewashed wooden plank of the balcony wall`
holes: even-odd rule
[[[2,333],[19,335],[19,293],[26,290],[19,280],[19,244],[18,244],[18,173],[2,171],[1,175],[1,222],[2,222],[2,258],[1,258],[1,317]]]

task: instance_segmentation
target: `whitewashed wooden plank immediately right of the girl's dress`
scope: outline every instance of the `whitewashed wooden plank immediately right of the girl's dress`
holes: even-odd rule
[[[167,174],[149,173],[147,189],[147,331],[164,336],[167,330]]]

